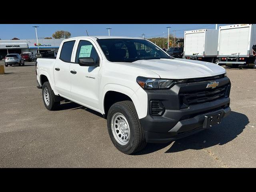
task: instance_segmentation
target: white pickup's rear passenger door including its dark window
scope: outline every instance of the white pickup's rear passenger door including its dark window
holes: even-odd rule
[[[70,63],[75,40],[63,43],[60,58],[56,59],[54,64],[54,81],[55,87],[61,96],[70,98]]]

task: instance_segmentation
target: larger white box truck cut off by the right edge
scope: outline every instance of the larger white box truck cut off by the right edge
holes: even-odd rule
[[[255,24],[233,24],[219,27],[217,64],[254,66],[252,46],[256,44]]]

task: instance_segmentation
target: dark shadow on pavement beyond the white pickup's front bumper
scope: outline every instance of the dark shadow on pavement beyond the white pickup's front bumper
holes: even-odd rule
[[[222,120],[220,125],[203,130],[194,135],[182,138],[173,142],[172,146],[165,153],[180,152],[188,149],[200,150],[215,145],[223,145],[243,132],[249,123],[246,115],[232,111],[229,116]],[[147,144],[146,148],[134,155],[149,154],[167,147],[172,142],[166,144]]]

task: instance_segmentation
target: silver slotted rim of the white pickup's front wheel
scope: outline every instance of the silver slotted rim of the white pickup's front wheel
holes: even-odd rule
[[[128,121],[121,113],[115,113],[111,119],[111,129],[114,138],[120,145],[126,145],[130,138]]]

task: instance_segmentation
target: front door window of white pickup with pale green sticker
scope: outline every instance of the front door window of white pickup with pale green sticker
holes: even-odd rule
[[[86,40],[80,40],[76,51],[76,63],[79,58],[93,58],[96,64],[100,63],[98,53],[91,42]]]

